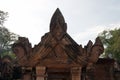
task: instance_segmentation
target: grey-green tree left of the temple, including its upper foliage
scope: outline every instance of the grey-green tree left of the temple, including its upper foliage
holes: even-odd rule
[[[11,45],[17,40],[18,35],[10,32],[4,27],[4,22],[8,17],[7,12],[0,11],[0,55],[13,55]]]

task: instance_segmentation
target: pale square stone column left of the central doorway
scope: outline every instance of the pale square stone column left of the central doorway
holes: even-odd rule
[[[36,80],[45,80],[46,67],[36,66]]]

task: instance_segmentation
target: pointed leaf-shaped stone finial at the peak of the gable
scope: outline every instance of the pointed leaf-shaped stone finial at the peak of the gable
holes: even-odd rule
[[[56,9],[55,13],[51,18],[50,32],[58,40],[66,33],[67,25],[64,17],[60,12],[59,8]]]

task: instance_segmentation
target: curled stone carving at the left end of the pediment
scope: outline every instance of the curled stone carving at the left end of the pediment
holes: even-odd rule
[[[25,37],[19,37],[18,41],[13,44],[12,50],[17,57],[15,63],[17,62],[20,66],[27,65],[29,56],[32,53],[29,40]]]

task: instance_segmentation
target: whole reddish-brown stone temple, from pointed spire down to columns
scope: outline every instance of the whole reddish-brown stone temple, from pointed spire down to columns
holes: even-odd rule
[[[25,37],[13,44],[15,65],[23,70],[21,80],[113,80],[114,60],[99,59],[104,51],[99,37],[84,47],[76,43],[58,8],[49,30],[33,48]]]

